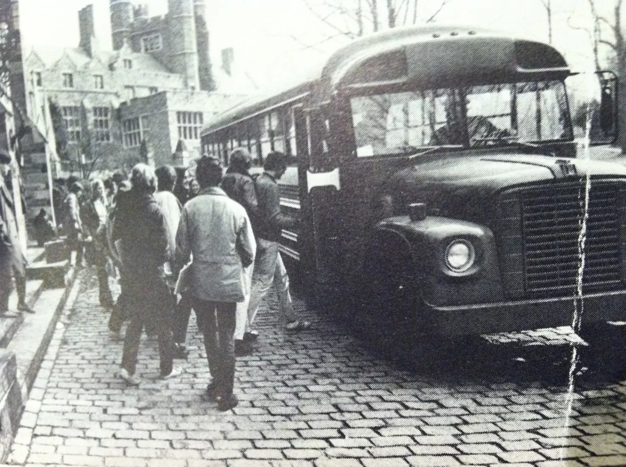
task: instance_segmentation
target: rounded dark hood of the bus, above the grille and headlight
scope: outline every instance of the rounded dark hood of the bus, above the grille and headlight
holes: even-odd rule
[[[433,154],[435,156],[435,154]],[[626,166],[584,159],[558,159],[523,153],[439,154],[439,158],[394,173],[383,188],[394,199],[394,212],[408,214],[411,203],[426,203],[428,212],[490,225],[495,195],[526,183],[572,176],[626,178]]]

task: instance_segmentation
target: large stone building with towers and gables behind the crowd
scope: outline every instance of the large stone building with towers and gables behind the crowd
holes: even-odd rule
[[[58,174],[129,169],[146,156],[156,165],[187,166],[200,155],[202,124],[255,91],[247,75],[235,73],[232,49],[212,69],[204,0],[169,0],[168,8],[150,18],[147,6],[111,0],[111,51],[100,47],[89,5],[78,13],[78,47],[25,54],[25,107],[36,114],[50,106],[51,119],[62,120],[55,133],[67,145],[58,154]],[[36,135],[26,152],[34,213],[49,204],[40,169],[46,156]]]

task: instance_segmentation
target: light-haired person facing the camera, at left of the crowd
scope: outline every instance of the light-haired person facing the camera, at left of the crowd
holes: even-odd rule
[[[98,273],[100,305],[113,308],[113,296],[109,287],[109,274],[106,271],[108,261],[108,242],[106,240],[106,221],[108,218],[108,200],[105,184],[99,178],[91,182],[91,199],[84,206],[83,218],[85,228],[91,237],[93,262]]]

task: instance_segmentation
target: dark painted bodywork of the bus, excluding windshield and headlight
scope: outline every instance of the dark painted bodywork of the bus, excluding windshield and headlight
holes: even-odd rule
[[[280,251],[307,298],[359,308],[367,262],[393,256],[391,239],[411,258],[416,300],[408,311],[426,333],[567,326],[581,307],[583,323],[626,321],[626,168],[576,159],[568,115],[569,136],[518,146],[362,156],[356,141],[351,96],[555,82],[569,73],[552,47],[487,29],[386,31],[345,46],[284,91],[218,116],[202,132],[203,147],[227,163],[237,144],[261,147],[250,122],[290,115],[294,143],[285,152],[294,166],[279,181],[281,209],[299,227],[283,231]],[[324,112],[322,135],[316,119]],[[424,219],[409,217],[414,203],[426,205]],[[444,260],[455,240],[475,249],[475,263],[460,273]]]

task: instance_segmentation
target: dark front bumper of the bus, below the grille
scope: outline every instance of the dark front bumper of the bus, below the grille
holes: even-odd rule
[[[429,333],[461,336],[572,326],[577,310],[583,325],[626,321],[626,290],[584,294],[582,299],[568,296],[454,306],[424,303],[419,313]]]

